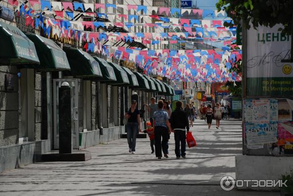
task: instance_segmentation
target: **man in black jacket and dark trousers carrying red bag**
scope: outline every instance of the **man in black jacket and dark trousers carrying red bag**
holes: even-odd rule
[[[171,128],[174,132],[176,158],[186,157],[186,130],[187,132],[189,131],[188,116],[182,109],[182,105],[182,101],[177,101],[176,110],[171,114]]]

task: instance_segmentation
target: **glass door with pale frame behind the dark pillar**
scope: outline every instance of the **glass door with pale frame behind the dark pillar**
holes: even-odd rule
[[[78,79],[53,79],[54,149],[59,149],[59,88],[63,82],[71,87],[71,133],[73,148],[79,149]]]

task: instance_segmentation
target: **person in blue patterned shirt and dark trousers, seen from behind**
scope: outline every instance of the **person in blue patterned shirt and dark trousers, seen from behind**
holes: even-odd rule
[[[164,102],[159,100],[158,110],[153,115],[153,126],[155,127],[155,152],[156,157],[162,158],[162,150],[164,157],[168,158],[168,130],[172,131],[167,112],[163,110]]]

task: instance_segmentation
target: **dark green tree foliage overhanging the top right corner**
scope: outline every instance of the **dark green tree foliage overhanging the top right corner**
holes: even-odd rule
[[[218,11],[225,10],[228,17],[237,25],[240,21],[243,27],[250,29],[258,25],[272,27],[281,23],[283,34],[291,35],[293,25],[293,0],[219,0],[216,3]],[[225,23],[232,26],[232,23]]]

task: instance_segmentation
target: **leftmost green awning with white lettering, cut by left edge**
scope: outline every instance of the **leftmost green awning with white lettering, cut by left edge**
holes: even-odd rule
[[[40,64],[35,44],[22,31],[0,21],[0,64]]]

